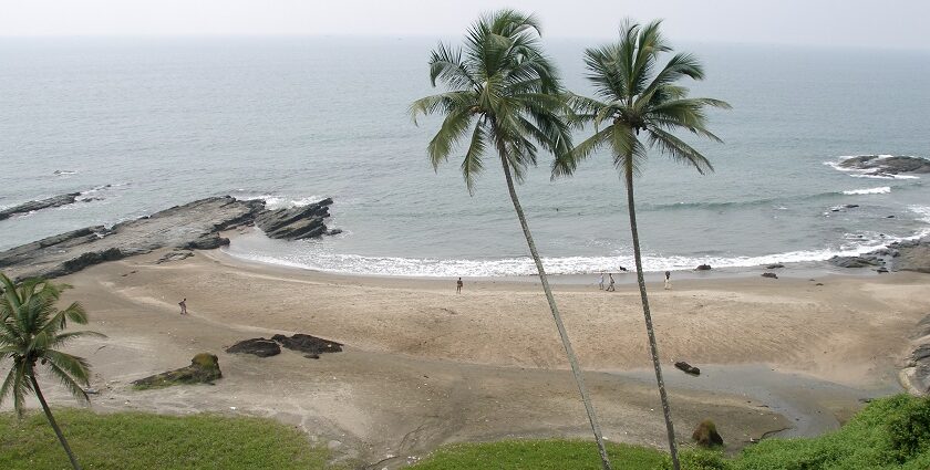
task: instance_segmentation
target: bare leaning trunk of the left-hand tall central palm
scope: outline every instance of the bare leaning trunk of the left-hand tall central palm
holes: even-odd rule
[[[604,470],[611,470],[610,460],[607,457],[607,449],[603,446],[603,437],[601,436],[600,425],[595,415],[595,407],[591,405],[591,397],[588,395],[588,387],[585,386],[585,377],[581,375],[581,367],[578,365],[578,357],[575,356],[575,349],[571,347],[571,342],[568,340],[568,332],[565,330],[565,324],[559,315],[559,309],[556,306],[556,299],[552,296],[552,290],[549,288],[549,279],[546,276],[546,270],[542,269],[542,260],[539,259],[539,253],[536,251],[536,243],[533,242],[533,234],[529,232],[529,226],[526,222],[520,201],[517,198],[517,191],[514,188],[514,178],[510,176],[510,167],[502,157],[504,165],[504,177],[507,179],[507,191],[510,194],[510,201],[514,202],[514,210],[517,212],[517,218],[520,220],[520,227],[526,237],[526,243],[529,246],[529,253],[533,255],[533,261],[536,263],[536,270],[539,272],[539,280],[542,282],[542,291],[546,292],[546,300],[549,302],[549,310],[552,311],[552,318],[556,321],[556,327],[559,331],[559,336],[565,347],[565,354],[568,356],[568,363],[571,365],[571,373],[575,375],[575,383],[578,385],[578,391],[581,394],[581,401],[585,403],[585,410],[588,412],[588,421],[591,424],[591,431],[595,434],[595,440],[598,443],[598,453],[600,453],[601,466]]]

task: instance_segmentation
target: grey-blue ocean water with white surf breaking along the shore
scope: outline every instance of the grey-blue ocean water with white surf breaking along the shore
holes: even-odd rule
[[[334,272],[519,275],[535,270],[493,157],[469,196],[455,159],[434,173],[431,38],[0,39],[0,207],[69,191],[89,201],[0,221],[0,250],[196,198],[272,206],[323,197],[343,233],[228,251]],[[546,45],[587,93],[581,52]],[[705,63],[695,95],[725,144],[716,173],[650,156],[637,180],[645,268],[817,261],[930,232],[930,175],[836,167],[861,154],[930,157],[930,53],[680,44]],[[581,135],[579,135],[581,137]],[[59,174],[55,174],[59,171]],[[106,186],[110,185],[110,186]],[[632,265],[624,188],[607,155],[570,179],[548,161],[518,188],[548,271]],[[859,205],[834,212],[833,207]],[[895,216],[888,218],[888,216]]]

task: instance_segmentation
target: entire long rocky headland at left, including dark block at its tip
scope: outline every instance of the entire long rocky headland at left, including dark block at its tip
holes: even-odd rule
[[[229,243],[220,232],[257,224],[271,238],[296,240],[334,234],[328,230],[332,199],[292,209],[266,209],[261,200],[211,197],[117,223],[86,227],[0,252],[0,270],[13,278],[55,278],[104,261],[144,254],[162,248],[176,252],[162,262],[184,259],[189,250]]]

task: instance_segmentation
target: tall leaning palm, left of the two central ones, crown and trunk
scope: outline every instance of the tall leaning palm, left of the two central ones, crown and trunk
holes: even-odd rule
[[[484,170],[484,157],[496,154],[499,159],[510,201],[588,412],[601,463],[609,469],[600,426],[578,359],[514,187],[514,180],[521,181],[527,167],[536,165],[539,147],[555,155],[571,150],[570,128],[561,118],[570,109],[555,66],[541,51],[539,34],[534,15],[500,10],[482,17],[468,30],[464,51],[440,44],[432,52],[430,80],[433,86],[442,82],[446,92],[417,100],[410,112],[414,123],[421,114],[445,115],[427,147],[434,169],[448,160],[462,140],[468,139],[462,174],[469,194],[474,192],[475,179]]]

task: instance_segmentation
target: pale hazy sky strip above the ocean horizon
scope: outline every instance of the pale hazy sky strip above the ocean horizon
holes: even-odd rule
[[[610,38],[623,17],[678,41],[930,50],[928,0],[0,0],[0,35],[461,35],[482,12],[536,12],[546,35]]]

